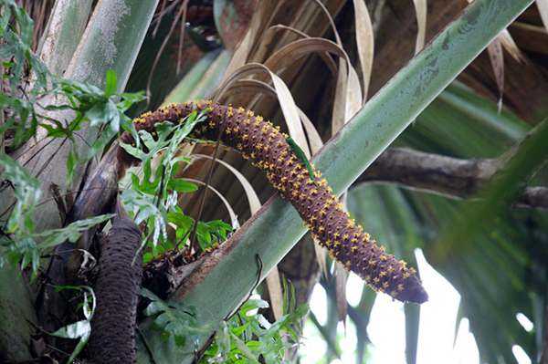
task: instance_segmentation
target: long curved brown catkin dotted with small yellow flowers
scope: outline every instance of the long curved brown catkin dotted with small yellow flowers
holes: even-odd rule
[[[342,209],[320,172],[314,180],[287,142],[288,135],[269,121],[243,108],[223,106],[212,101],[171,104],[146,112],[134,120],[137,130],[152,132],[160,121],[182,122],[194,110],[205,111],[206,119],[197,124],[196,138],[220,140],[240,151],[245,159],[266,172],[272,186],[297,209],[311,233],[330,255],[372,286],[400,301],[423,303],[427,293],[416,270],[385,253],[385,248]],[[121,140],[132,142],[130,134]],[[126,156],[127,158],[127,156]]]

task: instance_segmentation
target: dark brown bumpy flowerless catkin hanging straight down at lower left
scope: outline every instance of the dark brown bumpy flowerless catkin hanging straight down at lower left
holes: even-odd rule
[[[134,363],[135,323],[142,279],[142,256],[136,255],[141,232],[127,217],[115,217],[101,241],[97,307],[91,319],[93,363]],[[133,259],[135,260],[133,262]]]

